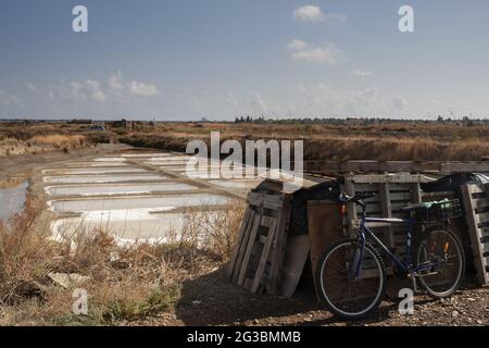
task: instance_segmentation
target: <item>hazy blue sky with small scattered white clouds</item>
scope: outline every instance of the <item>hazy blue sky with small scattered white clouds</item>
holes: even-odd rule
[[[1,0],[0,119],[487,117],[488,14],[487,0]]]

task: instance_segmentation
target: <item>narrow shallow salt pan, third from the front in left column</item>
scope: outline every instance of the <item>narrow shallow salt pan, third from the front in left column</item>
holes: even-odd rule
[[[198,187],[181,183],[127,184],[127,185],[62,185],[49,186],[45,190],[49,196],[117,196],[151,194],[158,191],[192,190]]]

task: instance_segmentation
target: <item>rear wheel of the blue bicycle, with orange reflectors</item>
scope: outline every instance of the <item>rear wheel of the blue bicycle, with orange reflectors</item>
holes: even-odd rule
[[[418,274],[431,297],[450,297],[459,289],[465,273],[465,254],[454,233],[444,227],[428,228],[417,247],[416,261],[417,266],[435,263]]]

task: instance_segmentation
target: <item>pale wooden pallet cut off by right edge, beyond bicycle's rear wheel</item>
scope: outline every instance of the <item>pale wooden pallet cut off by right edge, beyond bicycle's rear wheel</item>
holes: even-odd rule
[[[489,284],[489,184],[461,187],[472,252],[480,284]]]

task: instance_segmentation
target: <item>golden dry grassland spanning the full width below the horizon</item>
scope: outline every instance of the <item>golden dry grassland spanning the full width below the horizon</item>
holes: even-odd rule
[[[74,124],[0,124],[1,139],[28,141],[34,146],[55,146],[86,141],[108,142],[118,139],[137,147],[185,151],[191,139],[209,139],[213,130],[222,140],[302,139],[305,160],[480,160],[489,157],[489,125],[484,122],[368,121],[350,120],[330,123],[170,123],[138,122],[134,132],[108,127],[105,133],[89,133],[86,125]],[[65,137],[71,137],[66,140]],[[26,142],[27,144],[27,142]],[[9,149],[11,153],[16,153]],[[68,147],[66,147],[68,148]]]

